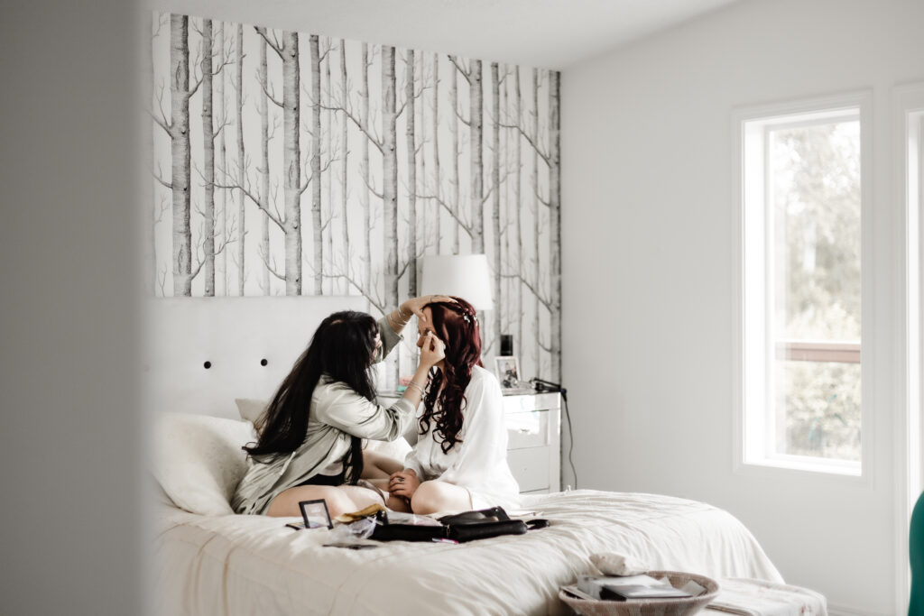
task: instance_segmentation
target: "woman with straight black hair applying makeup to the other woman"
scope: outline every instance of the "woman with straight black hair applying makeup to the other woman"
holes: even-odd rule
[[[371,365],[401,340],[422,307],[450,297],[408,299],[376,322],[363,312],[336,312],[323,320],[270,405],[257,421],[258,440],[244,447],[249,468],[231,501],[237,513],[298,515],[299,501],[323,499],[332,516],[382,502],[357,485],[363,475],[361,440],[395,441],[420,403],[430,369],[443,359],[443,343],[418,341],[417,372],[394,405],[376,404]]]

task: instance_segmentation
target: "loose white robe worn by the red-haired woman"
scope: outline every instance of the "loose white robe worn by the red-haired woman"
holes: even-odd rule
[[[418,419],[422,413],[421,405]],[[491,372],[472,368],[462,403],[459,441],[448,453],[434,441],[435,428],[431,421],[430,429],[419,434],[417,445],[405,459],[406,468],[413,469],[421,481],[438,479],[468,489],[473,509],[517,507],[519,486],[507,465],[503,395]]]

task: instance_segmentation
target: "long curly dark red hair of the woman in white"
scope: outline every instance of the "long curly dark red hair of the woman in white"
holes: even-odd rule
[[[433,332],[446,344],[446,356],[443,368],[431,375],[423,399],[423,415],[418,424],[420,434],[424,434],[430,429],[431,422],[436,423],[433,441],[440,443],[443,453],[449,452],[456,446],[456,442],[462,441],[458,433],[462,430],[464,419],[462,406],[468,405],[465,390],[471,381],[471,369],[474,366],[483,367],[481,332],[475,308],[461,297],[453,299],[456,300],[455,304],[427,304],[427,308],[431,309]]]

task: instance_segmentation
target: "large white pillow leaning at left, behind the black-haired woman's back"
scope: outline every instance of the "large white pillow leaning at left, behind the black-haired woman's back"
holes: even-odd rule
[[[234,513],[229,501],[247,472],[241,449],[255,441],[245,421],[163,413],[153,430],[153,474],[177,507],[202,515]]]

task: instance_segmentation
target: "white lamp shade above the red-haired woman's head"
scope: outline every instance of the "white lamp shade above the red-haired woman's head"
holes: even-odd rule
[[[485,255],[426,255],[420,275],[421,296],[461,297],[476,310],[491,310],[491,268]]]

